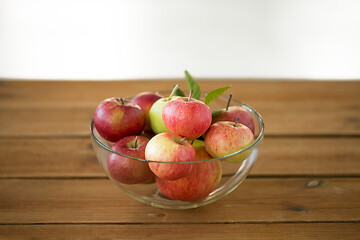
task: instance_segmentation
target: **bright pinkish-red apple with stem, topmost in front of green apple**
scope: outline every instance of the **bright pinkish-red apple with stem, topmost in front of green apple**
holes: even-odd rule
[[[210,127],[210,108],[202,101],[189,97],[178,97],[169,101],[163,109],[162,119],[171,133],[195,139]]]

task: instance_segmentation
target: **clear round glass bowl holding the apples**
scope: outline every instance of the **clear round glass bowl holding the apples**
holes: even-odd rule
[[[169,96],[170,92],[163,91],[160,92],[159,94],[162,96]],[[127,99],[130,100],[131,98],[132,97],[129,97]],[[202,95],[201,100],[204,100],[204,98],[205,96]],[[228,99],[229,96],[225,96],[225,95],[221,95],[220,97],[215,99],[209,105],[211,111],[224,109],[227,105]],[[149,163],[150,161],[126,156],[124,154],[113,151],[111,148],[114,145],[114,143],[106,141],[104,138],[102,138],[99,135],[99,133],[96,131],[96,128],[94,126],[94,120],[91,121],[91,126],[90,126],[93,149],[96,153],[97,159],[101,167],[103,168],[109,179],[112,182],[114,182],[122,191],[124,191],[132,198],[140,202],[146,203],[148,205],[159,208],[189,209],[189,208],[204,206],[219,200],[220,198],[232,192],[236,187],[238,187],[242,183],[242,181],[244,181],[245,178],[249,175],[259,155],[261,142],[264,137],[263,120],[260,114],[257,113],[253,108],[245,105],[244,103],[236,99],[232,99],[231,106],[236,106],[236,105],[245,108],[252,116],[255,124],[255,132],[254,132],[255,140],[251,145],[238,152],[220,158],[212,158],[212,159],[196,162],[196,164],[203,164],[205,162],[218,161],[220,162],[222,169],[221,180],[218,186],[200,200],[195,200],[195,201],[172,200],[166,197],[164,194],[162,194],[155,181],[149,181],[147,183],[138,183],[138,184],[124,184],[113,179],[109,174],[108,166],[107,166],[107,159],[109,155],[117,154],[117,155],[129,157],[133,161],[142,161],[146,163]],[[247,156],[245,160],[240,162],[234,161],[234,159],[236,159],[237,157],[244,158],[244,156]],[[160,164],[194,164],[194,162],[187,162],[187,163],[162,162]]]

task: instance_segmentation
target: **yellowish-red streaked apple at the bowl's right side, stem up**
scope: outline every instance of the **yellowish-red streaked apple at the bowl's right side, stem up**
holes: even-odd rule
[[[214,158],[240,151],[254,142],[254,134],[244,124],[221,121],[210,126],[204,137],[206,151]],[[250,150],[250,149],[249,149]],[[244,151],[228,157],[229,162],[242,162],[251,153]]]

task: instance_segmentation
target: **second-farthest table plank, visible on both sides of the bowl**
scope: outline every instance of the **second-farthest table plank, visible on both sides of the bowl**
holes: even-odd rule
[[[266,135],[360,135],[357,104],[254,102]],[[0,136],[88,136],[92,107],[0,108]]]

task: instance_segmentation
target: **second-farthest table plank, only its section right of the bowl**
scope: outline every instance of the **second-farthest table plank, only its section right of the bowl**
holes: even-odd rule
[[[304,96],[306,97],[306,96]],[[360,135],[360,101],[254,103],[269,135]]]

